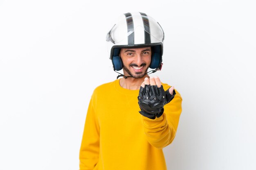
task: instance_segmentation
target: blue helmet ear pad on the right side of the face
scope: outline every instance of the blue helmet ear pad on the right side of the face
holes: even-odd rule
[[[151,63],[150,68],[155,69],[158,68],[159,65],[162,63],[162,52],[161,52],[161,46],[153,46],[152,47],[152,55],[151,55]]]

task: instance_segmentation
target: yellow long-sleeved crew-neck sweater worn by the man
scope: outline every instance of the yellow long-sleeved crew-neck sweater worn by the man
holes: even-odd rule
[[[139,90],[117,79],[97,87],[88,107],[80,149],[80,170],[166,170],[162,148],[170,144],[182,111],[176,95],[155,120],[141,116]],[[163,84],[165,90],[170,86]]]

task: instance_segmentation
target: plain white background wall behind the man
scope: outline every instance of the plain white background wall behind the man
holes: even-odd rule
[[[0,0],[0,170],[78,170],[93,89],[115,80],[106,33],[140,11],[165,32],[183,111],[168,170],[256,169],[256,3]]]

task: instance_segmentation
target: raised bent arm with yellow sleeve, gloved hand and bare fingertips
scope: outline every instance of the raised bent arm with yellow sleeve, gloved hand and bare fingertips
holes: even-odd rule
[[[160,79],[150,77],[145,78],[141,84],[138,100],[148,142],[156,148],[170,144],[175,137],[182,111],[180,93],[174,91],[174,87],[164,91]]]

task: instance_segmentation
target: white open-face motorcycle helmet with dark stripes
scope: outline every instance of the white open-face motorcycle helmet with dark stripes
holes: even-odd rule
[[[160,24],[145,13],[125,13],[108,32],[108,51],[114,71],[123,68],[119,56],[121,48],[152,47],[150,68],[160,70],[162,66],[164,31]],[[156,71],[155,70],[155,71]]]

